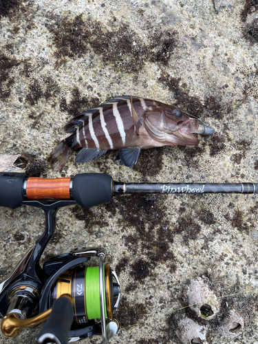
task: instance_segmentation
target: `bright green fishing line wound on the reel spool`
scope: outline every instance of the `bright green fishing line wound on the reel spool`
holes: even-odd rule
[[[105,290],[105,268],[103,269],[103,281]],[[100,287],[99,287],[99,267],[89,267],[85,274],[85,299],[87,318],[100,319]],[[105,299],[105,316],[107,318],[107,306]]]

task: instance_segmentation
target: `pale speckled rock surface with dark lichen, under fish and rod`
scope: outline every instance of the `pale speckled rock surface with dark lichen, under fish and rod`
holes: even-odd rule
[[[36,166],[30,175],[47,178],[105,172],[125,182],[257,182],[257,10],[244,0],[1,1],[0,154],[27,154]],[[131,169],[114,161],[114,151],[81,165],[74,154],[53,172],[45,161],[66,137],[65,123],[120,94],[176,104],[216,133],[200,136],[198,147],[142,151]],[[189,281],[207,276],[221,302],[208,343],[233,343],[217,327],[235,309],[245,324],[237,343],[251,344],[258,341],[257,209],[255,195],[208,194],[63,208],[43,258],[107,249],[122,283],[117,316],[127,327],[111,343],[180,343],[173,314],[186,306]],[[44,221],[36,208],[0,209],[1,280]],[[0,342],[34,343],[37,333]]]

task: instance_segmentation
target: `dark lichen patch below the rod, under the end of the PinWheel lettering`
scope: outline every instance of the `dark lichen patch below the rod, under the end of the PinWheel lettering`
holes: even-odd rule
[[[196,240],[201,226],[195,222],[191,214],[183,215],[178,219],[178,223],[173,228],[173,233],[182,234],[184,242],[189,244],[189,240]]]

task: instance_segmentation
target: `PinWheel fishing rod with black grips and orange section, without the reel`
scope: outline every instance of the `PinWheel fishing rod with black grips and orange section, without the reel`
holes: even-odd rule
[[[35,178],[25,173],[0,173],[0,206],[17,208],[28,200],[73,200],[90,208],[133,193],[258,193],[258,183],[125,183],[105,173],[80,173],[70,178]]]

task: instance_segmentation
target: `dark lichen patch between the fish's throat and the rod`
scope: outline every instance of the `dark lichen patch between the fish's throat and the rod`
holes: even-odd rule
[[[133,170],[141,173],[143,180],[146,179],[146,175],[158,175],[162,169],[162,155],[165,149],[165,147],[158,147],[140,151],[138,162],[133,166]]]

